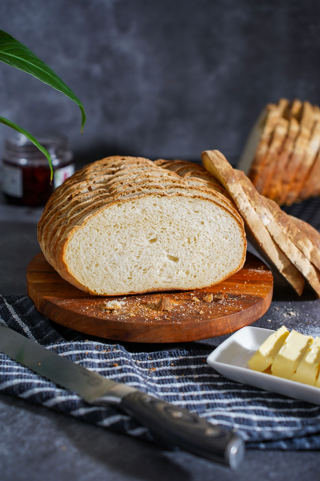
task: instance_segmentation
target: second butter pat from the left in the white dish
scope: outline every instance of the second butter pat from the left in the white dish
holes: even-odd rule
[[[312,336],[304,336],[303,334],[299,334],[295,329],[292,329],[284,341],[282,348],[274,357],[271,365],[273,376],[291,379],[311,342]]]

